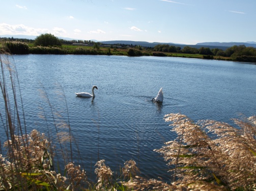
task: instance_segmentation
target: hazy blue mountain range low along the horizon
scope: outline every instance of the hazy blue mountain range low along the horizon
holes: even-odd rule
[[[14,37],[15,39],[30,39],[30,40],[35,40],[37,36],[32,36],[32,35],[0,35],[0,37],[7,37],[7,38],[11,38]],[[71,40],[81,40],[81,39],[71,39],[68,37],[61,37],[58,36],[60,39],[64,39],[67,41],[71,41]],[[83,41],[83,40],[82,40]],[[174,43],[158,43],[158,42],[154,42],[154,43],[148,43],[148,42],[144,42],[144,41],[97,41],[97,40],[91,40],[93,42],[100,42],[103,44],[108,44],[108,45],[113,45],[113,44],[125,44],[125,45],[138,45],[138,46],[142,46],[142,47],[154,47],[156,45],[169,45],[169,46],[176,46],[176,47],[181,47],[184,48],[185,46],[189,46],[189,47],[193,47],[193,48],[201,48],[201,47],[205,47],[205,48],[210,48],[210,49],[214,49],[214,48],[219,48],[222,50],[226,50],[229,47],[233,47],[235,45],[239,46],[239,45],[245,45],[246,47],[253,47],[256,48],[256,42],[246,42],[246,43],[237,43],[237,42],[230,42],[230,43],[219,43],[219,42],[208,42],[208,43],[197,43],[196,45],[184,45],[184,44],[174,44]]]

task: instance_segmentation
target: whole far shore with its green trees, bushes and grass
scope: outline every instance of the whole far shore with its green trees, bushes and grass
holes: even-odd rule
[[[217,60],[233,60],[256,63],[256,49],[253,47],[233,46],[225,51],[215,48],[200,49],[189,46],[175,47],[157,45],[155,47],[141,47],[132,45],[104,45],[92,41],[66,41],[52,34],[41,34],[35,41],[2,39],[3,46],[11,54],[79,54],[79,55],[125,55],[125,56],[172,56],[186,58],[202,58]]]

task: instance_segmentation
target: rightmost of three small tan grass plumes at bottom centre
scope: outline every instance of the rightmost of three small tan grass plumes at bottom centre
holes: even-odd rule
[[[139,169],[136,166],[135,161],[133,160],[126,161],[124,163],[124,167],[122,168],[122,173],[125,180],[132,181],[133,177],[139,174]]]

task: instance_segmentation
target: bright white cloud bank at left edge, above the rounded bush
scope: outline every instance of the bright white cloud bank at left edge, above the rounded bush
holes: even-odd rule
[[[10,25],[0,23],[0,34],[24,34],[24,35],[40,35],[42,33],[50,33],[46,28],[32,28],[23,24]]]

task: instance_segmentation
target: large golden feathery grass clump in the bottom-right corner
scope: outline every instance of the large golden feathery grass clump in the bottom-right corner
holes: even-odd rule
[[[171,122],[178,138],[156,151],[167,165],[177,167],[174,183],[187,188],[202,187],[205,182],[212,189],[216,185],[222,190],[256,189],[255,117],[234,119],[237,128],[212,120],[194,123],[180,113],[167,114],[164,119]]]

